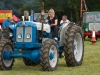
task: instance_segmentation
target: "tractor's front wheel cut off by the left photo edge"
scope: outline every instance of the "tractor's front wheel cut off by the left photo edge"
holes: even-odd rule
[[[2,39],[0,41],[0,69],[1,70],[10,70],[12,69],[14,59],[10,57],[10,54],[13,53],[13,46],[9,40]],[[7,57],[9,55],[9,58]],[[8,59],[6,59],[7,57]]]

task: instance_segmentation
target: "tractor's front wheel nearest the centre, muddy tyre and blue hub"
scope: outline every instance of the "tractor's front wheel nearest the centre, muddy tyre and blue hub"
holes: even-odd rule
[[[41,66],[44,71],[53,71],[58,64],[58,49],[54,40],[48,39],[41,49]]]

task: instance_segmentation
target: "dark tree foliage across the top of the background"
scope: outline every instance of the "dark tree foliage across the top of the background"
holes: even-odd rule
[[[89,11],[100,11],[100,0],[85,0]],[[13,14],[23,15],[24,10],[35,12],[41,11],[42,0],[2,0],[0,9],[11,9]],[[73,17],[74,21],[79,20],[80,0],[45,0],[45,10],[53,8],[61,19],[62,15],[67,15],[68,19]]]

